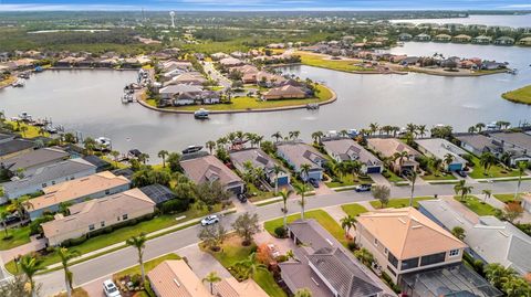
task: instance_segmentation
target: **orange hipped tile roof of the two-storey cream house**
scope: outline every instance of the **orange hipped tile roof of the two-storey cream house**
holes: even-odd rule
[[[357,224],[398,259],[431,255],[467,245],[414,208],[360,214]]]

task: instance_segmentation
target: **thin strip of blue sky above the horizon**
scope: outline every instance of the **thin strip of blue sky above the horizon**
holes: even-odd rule
[[[531,0],[0,0],[0,11],[137,9],[176,11],[531,10]]]

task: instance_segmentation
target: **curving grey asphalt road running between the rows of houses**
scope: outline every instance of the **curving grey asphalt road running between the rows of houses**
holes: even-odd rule
[[[494,193],[511,193],[514,192],[517,182],[475,183],[471,185],[473,185],[473,194],[481,194],[481,191],[485,189],[493,190]],[[521,191],[530,190],[531,181],[523,181]],[[409,194],[410,187],[392,188],[393,198],[406,198],[409,197]],[[434,194],[455,194],[454,184],[421,184],[415,188],[416,197]],[[356,193],[354,191],[345,191],[332,194],[321,194],[308,198],[306,210],[322,209],[331,205],[367,200],[373,200],[369,192]],[[257,212],[260,216],[260,221],[268,221],[282,215],[280,211],[280,203],[269,204],[259,208],[250,205],[248,206],[248,209],[250,209],[251,212]],[[290,214],[300,212],[300,205],[298,204],[298,201],[295,199],[289,202],[288,210]],[[237,213],[229,214],[221,219],[221,223],[228,229],[230,229],[230,224],[236,220],[237,216]],[[197,238],[199,229],[200,226],[196,225],[148,241],[144,252],[145,261],[158,257],[167,253],[171,253],[191,244],[197,244],[199,242],[199,240]],[[126,247],[114,253],[76,264],[71,267],[71,271],[74,275],[75,286],[81,286],[92,280],[98,279],[102,276],[111,275],[115,272],[119,272],[124,268],[136,265],[136,250]],[[64,289],[64,275],[62,271],[41,275],[37,278],[37,282],[43,284],[42,294],[44,296],[49,296]]]

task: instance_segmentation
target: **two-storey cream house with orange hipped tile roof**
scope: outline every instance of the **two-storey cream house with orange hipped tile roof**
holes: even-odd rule
[[[356,243],[395,284],[404,274],[460,263],[467,247],[414,208],[377,210],[356,219]]]

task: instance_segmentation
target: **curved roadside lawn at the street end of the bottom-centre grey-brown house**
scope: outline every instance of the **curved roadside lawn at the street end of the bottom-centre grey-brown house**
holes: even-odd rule
[[[291,223],[295,220],[299,220],[301,215],[299,213],[288,216],[288,223]],[[337,241],[342,244],[346,244],[345,232],[341,229],[340,224],[330,216],[330,214],[323,210],[313,210],[306,211],[304,213],[304,219],[315,219],[324,229],[326,229]],[[271,234],[274,235],[274,230],[279,226],[282,226],[283,219],[279,218],[275,220],[267,221],[263,223],[263,227]]]

